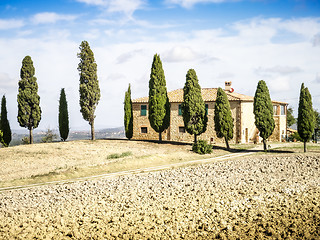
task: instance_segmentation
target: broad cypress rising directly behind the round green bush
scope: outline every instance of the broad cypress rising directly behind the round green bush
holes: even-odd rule
[[[198,77],[193,69],[189,69],[186,75],[181,110],[184,127],[189,134],[194,135],[194,143],[197,143],[197,136],[207,130],[208,117]]]

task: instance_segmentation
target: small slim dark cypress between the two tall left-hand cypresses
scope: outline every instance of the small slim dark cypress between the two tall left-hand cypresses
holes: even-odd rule
[[[64,88],[61,89],[59,99],[59,132],[62,141],[65,141],[69,135],[69,114],[68,102]]]

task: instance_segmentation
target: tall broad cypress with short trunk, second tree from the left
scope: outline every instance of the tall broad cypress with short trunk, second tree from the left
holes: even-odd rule
[[[38,95],[35,68],[30,56],[22,60],[20,71],[18,101],[18,122],[29,130],[30,144],[33,143],[32,130],[39,126],[41,120],[40,96]]]

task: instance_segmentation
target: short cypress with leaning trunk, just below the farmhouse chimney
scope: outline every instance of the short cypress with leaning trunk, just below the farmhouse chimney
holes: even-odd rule
[[[218,138],[224,138],[229,150],[229,140],[233,138],[233,118],[227,94],[218,88],[214,107],[214,129]]]

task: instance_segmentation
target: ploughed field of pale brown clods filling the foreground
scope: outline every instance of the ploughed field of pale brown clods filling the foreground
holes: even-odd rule
[[[320,155],[0,193],[0,239],[320,238]]]

